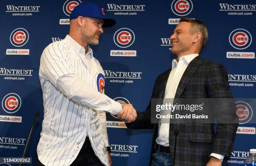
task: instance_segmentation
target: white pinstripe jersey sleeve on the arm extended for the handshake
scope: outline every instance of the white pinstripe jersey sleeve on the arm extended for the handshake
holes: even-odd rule
[[[69,57],[65,54],[65,49],[58,46],[57,43],[52,43],[44,49],[40,67],[44,69],[44,74],[51,84],[69,100],[114,115],[122,110],[118,102],[90,87],[78,75],[74,74],[73,69],[69,66]]]

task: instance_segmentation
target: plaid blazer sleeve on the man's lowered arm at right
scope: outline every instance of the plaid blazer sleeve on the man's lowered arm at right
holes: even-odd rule
[[[221,102],[219,109],[215,109],[217,111],[215,113],[218,113],[218,125],[211,153],[222,154],[230,158],[238,128],[238,116],[235,103],[232,102],[233,95],[229,89],[228,73],[222,64],[212,65],[207,76],[207,94],[209,98],[229,99],[228,102]]]

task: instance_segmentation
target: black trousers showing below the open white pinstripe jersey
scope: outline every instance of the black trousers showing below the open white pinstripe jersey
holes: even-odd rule
[[[37,166],[44,166],[39,160]],[[77,158],[70,166],[104,166],[95,155],[90,140],[87,138],[78,153]]]

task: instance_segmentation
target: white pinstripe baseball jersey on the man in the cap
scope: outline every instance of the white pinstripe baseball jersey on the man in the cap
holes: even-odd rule
[[[46,166],[69,166],[86,135],[96,156],[109,165],[107,136],[104,139],[104,134],[107,135],[105,112],[98,110],[117,114],[121,106],[98,92],[97,77],[104,73],[89,46],[87,50],[92,57],[90,72],[85,63],[85,49],[68,35],[62,41],[49,44],[42,53],[39,78],[44,120],[37,154]]]

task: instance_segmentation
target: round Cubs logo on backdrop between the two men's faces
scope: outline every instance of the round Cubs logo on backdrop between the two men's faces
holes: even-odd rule
[[[121,28],[114,34],[115,45],[121,48],[129,47],[133,44],[135,35],[131,29]]]

